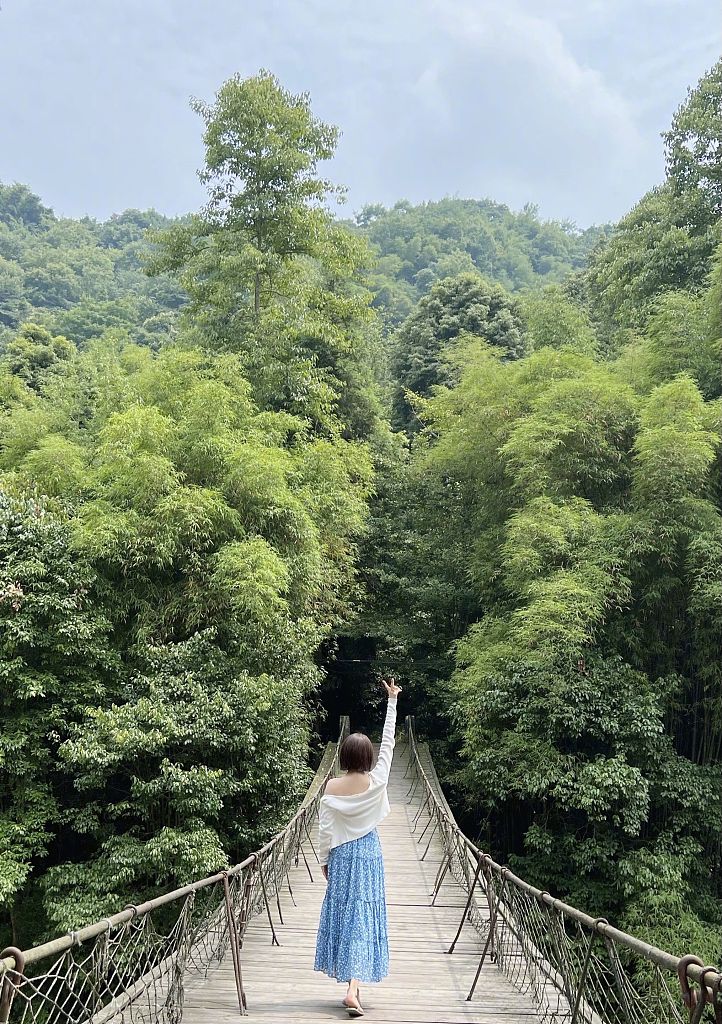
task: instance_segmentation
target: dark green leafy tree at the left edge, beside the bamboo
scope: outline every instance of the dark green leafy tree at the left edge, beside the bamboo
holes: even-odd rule
[[[47,503],[0,490],[0,910],[11,914],[66,804],[60,744],[86,705],[118,689],[94,573],[71,551],[71,528]],[[17,937],[26,923],[12,916]]]

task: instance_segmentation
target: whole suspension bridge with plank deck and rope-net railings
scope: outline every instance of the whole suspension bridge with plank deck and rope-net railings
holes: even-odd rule
[[[227,1024],[346,1019],[313,972],[325,882],[318,801],[241,864],[28,950],[0,953],[0,1024]],[[391,969],[362,986],[382,1024],[722,1024],[722,973],[656,949],[497,864],[458,827],[413,719],[379,826]]]

